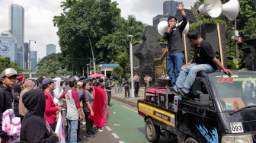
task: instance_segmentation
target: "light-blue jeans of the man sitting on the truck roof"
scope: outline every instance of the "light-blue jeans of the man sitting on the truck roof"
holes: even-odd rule
[[[199,71],[215,71],[215,69],[209,64],[197,64],[193,63],[181,68],[180,76],[177,79],[174,86],[175,91],[182,89],[185,93],[189,93],[189,89],[194,83]]]

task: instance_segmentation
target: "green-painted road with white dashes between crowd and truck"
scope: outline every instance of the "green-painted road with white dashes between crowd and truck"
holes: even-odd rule
[[[129,106],[117,100],[111,100],[107,124],[104,132],[96,132],[95,138],[85,137],[85,126],[80,127],[80,142],[97,143],[148,143],[145,134],[145,122],[137,113],[136,107]],[[94,130],[95,127],[94,127]],[[174,142],[171,139],[160,138],[158,142]]]

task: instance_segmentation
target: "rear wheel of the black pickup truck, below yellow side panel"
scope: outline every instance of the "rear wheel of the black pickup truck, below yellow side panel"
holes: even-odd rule
[[[148,118],[146,119],[146,138],[150,142],[157,142],[160,138],[160,127],[156,126],[152,119]]]

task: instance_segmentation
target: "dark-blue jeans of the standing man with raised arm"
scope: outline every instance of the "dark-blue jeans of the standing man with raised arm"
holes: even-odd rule
[[[171,78],[171,84],[174,86],[183,65],[184,52],[172,53],[167,56],[167,72]],[[175,73],[176,70],[176,73]]]

